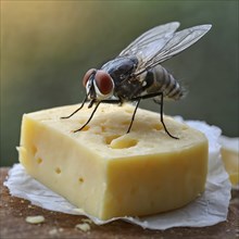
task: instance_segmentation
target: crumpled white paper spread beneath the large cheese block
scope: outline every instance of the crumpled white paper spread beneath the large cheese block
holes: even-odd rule
[[[176,120],[183,121],[180,117],[176,117]],[[209,139],[209,174],[204,193],[181,209],[152,216],[114,217],[108,221],[101,221],[72,205],[64,198],[32,178],[26,174],[21,164],[15,164],[12,167],[9,172],[8,180],[4,181],[4,186],[9,188],[10,193],[14,197],[27,199],[33,204],[47,210],[86,215],[97,225],[116,219],[123,219],[143,228],[162,230],[172,227],[204,227],[215,225],[227,218],[231,189],[228,174],[223,166],[219,152],[221,144],[218,143],[218,138],[221,136],[221,129],[215,126],[209,126],[204,122],[187,121],[186,123],[204,133]]]

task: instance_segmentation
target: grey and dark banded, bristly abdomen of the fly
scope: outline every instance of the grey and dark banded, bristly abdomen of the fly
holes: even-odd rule
[[[184,89],[163,66],[156,65],[148,71],[146,79],[147,92],[162,92],[164,97],[179,100],[184,96]]]

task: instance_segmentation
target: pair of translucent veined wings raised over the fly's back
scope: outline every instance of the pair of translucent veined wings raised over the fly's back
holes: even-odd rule
[[[154,27],[133,41],[120,56],[137,56],[139,65],[135,75],[139,75],[184,51],[205,35],[210,28],[211,25],[200,25],[175,33],[176,24],[169,23],[159,26],[161,30],[158,33],[158,27]]]

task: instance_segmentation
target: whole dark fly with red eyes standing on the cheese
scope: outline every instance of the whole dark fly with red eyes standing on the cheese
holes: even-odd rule
[[[203,35],[211,25],[193,26],[180,32],[178,22],[156,26],[134,40],[115,59],[106,62],[100,70],[89,70],[84,78],[86,97],[81,105],[87,101],[88,108],[96,105],[88,121],[78,129],[80,131],[89,124],[100,103],[136,102],[135,111],[127,133],[130,131],[139,103],[142,99],[153,98],[161,105],[161,123],[166,134],[175,139],[163,120],[163,102],[165,99],[179,100],[184,97],[184,88],[168,73],[161,63],[184,51]]]

